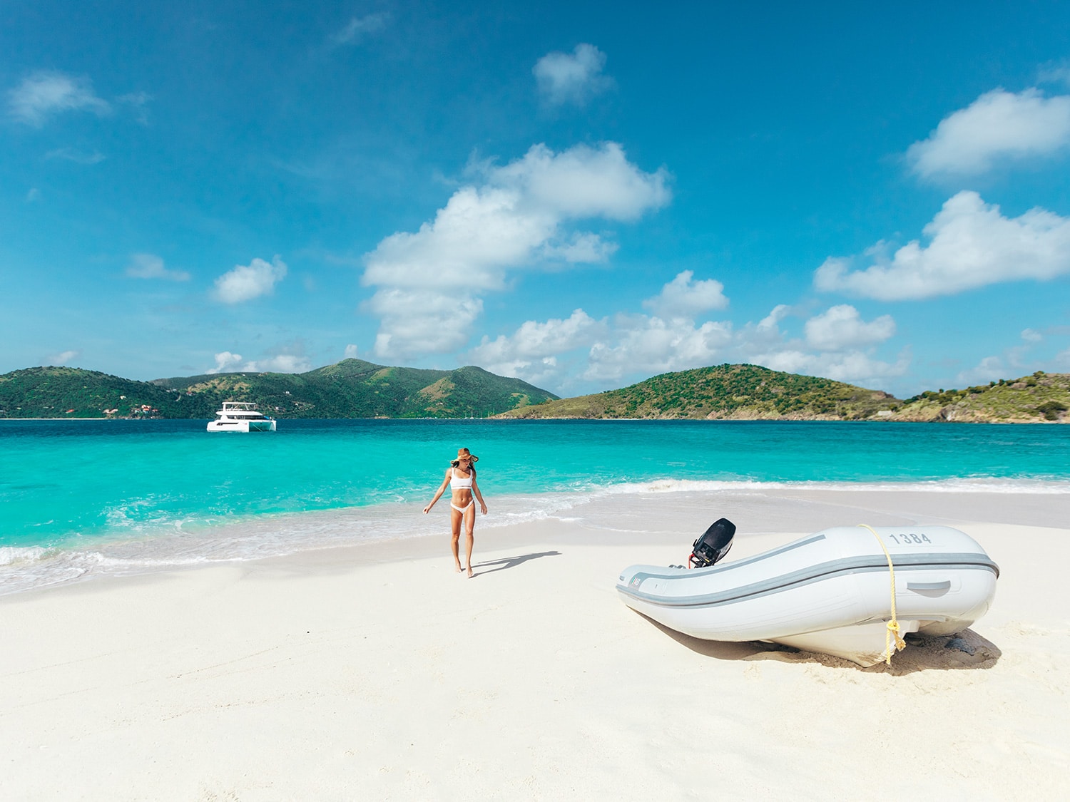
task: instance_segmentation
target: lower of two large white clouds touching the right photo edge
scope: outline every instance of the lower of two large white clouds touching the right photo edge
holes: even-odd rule
[[[1007,218],[977,192],[950,198],[922,233],[890,260],[851,271],[852,260],[829,258],[814,273],[825,292],[882,300],[952,295],[1000,281],[1049,280],[1070,273],[1070,219],[1043,209]]]

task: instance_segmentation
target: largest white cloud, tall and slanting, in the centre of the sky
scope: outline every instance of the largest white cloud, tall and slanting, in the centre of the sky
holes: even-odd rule
[[[457,350],[483,312],[482,295],[503,289],[509,271],[547,259],[602,262],[615,248],[568,223],[635,220],[669,202],[667,184],[663,169],[643,172],[613,142],[562,153],[538,144],[508,165],[484,165],[433,220],[366,255],[362,282],[377,291],[365,310],[380,318],[374,353]]]

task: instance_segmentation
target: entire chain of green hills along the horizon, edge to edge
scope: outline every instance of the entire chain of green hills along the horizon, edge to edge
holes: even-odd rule
[[[559,398],[519,379],[343,359],[306,373],[216,373],[138,382],[37,367],[0,375],[0,418],[210,419],[223,401],[278,418],[499,418],[1070,422],[1070,374],[1037,371],[898,399],[755,365],[662,373],[605,392]]]

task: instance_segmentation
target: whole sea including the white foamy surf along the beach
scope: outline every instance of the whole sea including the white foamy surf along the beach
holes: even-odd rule
[[[0,420],[0,593],[441,531],[448,499],[419,510],[460,446],[480,458],[478,528],[607,493],[1070,491],[1070,427],[1052,425]]]

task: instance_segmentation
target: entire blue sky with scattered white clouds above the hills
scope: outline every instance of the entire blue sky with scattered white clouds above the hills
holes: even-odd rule
[[[0,0],[0,373],[1070,372],[1058,2]]]

